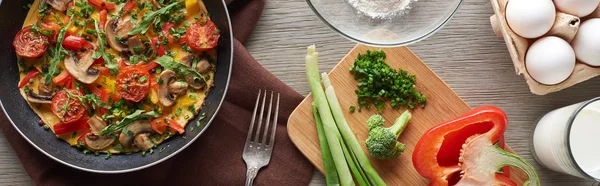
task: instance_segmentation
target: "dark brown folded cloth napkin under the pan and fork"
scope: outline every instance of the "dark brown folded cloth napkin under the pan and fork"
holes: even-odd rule
[[[236,40],[225,101],[207,131],[167,161],[131,173],[89,173],[43,155],[19,135],[3,114],[0,129],[36,185],[243,185],[246,165],[242,151],[255,97],[258,89],[273,90],[281,94],[275,147],[270,164],[260,170],[254,184],[307,185],[314,167],[291,143],[286,126],[287,118],[303,97],[264,69],[242,45],[265,3],[236,0],[235,10],[230,10]]]

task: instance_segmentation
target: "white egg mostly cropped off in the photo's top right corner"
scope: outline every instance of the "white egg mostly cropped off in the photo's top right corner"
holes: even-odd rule
[[[598,8],[600,0],[554,0],[554,6],[561,12],[585,17]]]

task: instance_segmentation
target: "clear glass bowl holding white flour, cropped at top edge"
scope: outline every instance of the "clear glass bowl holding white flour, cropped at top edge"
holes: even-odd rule
[[[452,18],[462,0],[306,2],[327,26],[340,35],[366,45],[394,47],[415,43],[433,35]]]

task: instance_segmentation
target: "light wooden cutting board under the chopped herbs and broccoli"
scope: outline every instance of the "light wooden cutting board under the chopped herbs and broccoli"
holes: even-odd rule
[[[357,85],[348,69],[354,63],[354,59],[359,53],[378,49],[365,45],[357,45],[329,72],[331,83],[335,88],[342,108],[344,108],[346,120],[367,154],[368,152],[365,147],[365,140],[368,135],[366,121],[371,115],[379,112],[374,107],[371,110],[362,109],[361,112],[356,111],[351,113],[349,111],[348,108],[350,106],[356,106],[357,104],[356,94],[354,93]],[[421,177],[412,164],[412,152],[415,144],[429,128],[453,119],[469,111],[471,108],[407,47],[383,48],[383,51],[385,51],[387,55],[386,61],[391,67],[395,69],[402,68],[407,70],[409,74],[416,75],[416,89],[422,91],[427,96],[427,106],[411,111],[413,114],[412,120],[399,137],[399,141],[407,146],[406,151],[400,157],[394,160],[376,160],[371,158],[370,155],[367,156],[388,185],[426,185],[428,183],[427,179]],[[321,161],[319,140],[312,115],[311,103],[312,96],[309,94],[292,112],[288,120],[288,134],[292,142],[304,156],[319,171],[323,172],[323,163]],[[386,109],[380,113],[386,119],[385,126],[391,126],[396,118],[405,110],[405,108],[392,109],[386,103]],[[527,178],[520,171],[512,172],[513,176],[511,177],[515,177],[513,180],[522,180],[519,177]]]

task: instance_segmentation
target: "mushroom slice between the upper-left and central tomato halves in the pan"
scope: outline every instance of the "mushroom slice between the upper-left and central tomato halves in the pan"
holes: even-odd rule
[[[94,58],[92,58],[92,52],[90,51],[83,53],[81,59],[77,59],[74,55],[68,55],[65,57],[64,62],[69,74],[82,83],[93,83],[100,76],[99,70],[88,69],[94,63]]]

